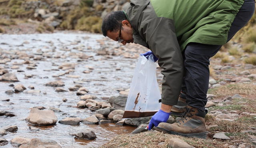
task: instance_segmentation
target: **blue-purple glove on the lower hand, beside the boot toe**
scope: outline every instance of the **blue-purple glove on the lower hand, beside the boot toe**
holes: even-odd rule
[[[170,116],[170,112],[164,112],[161,109],[152,116],[149,124],[148,124],[148,130],[151,130],[153,126],[158,126],[161,122],[166,122]]]

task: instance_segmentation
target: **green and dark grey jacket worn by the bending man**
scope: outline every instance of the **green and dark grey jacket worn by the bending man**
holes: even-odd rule
[[[152,50],[163,68],[162,103],[176,105],[183,77],[181,51],[190,42],[223,45],[244,0],[131,0],[124,7],[134,43]]]

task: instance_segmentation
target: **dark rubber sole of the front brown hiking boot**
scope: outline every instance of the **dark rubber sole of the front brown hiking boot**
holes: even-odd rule
[[[160,128],[160,127],[153,127],[153,129],[157,130],[159,132],[164,132],[165,134],[174,134],[174,135],[180,135],[180,136],[184,136],[184,137],[196,137],[196,138],[206,139],[206,135],[207,135],[206,132],[184,134],[184,133],[166,130],[166,129]]]

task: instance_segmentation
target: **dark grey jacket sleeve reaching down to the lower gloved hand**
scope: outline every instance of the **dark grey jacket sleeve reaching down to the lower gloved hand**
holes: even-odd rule
[[[163,68],[162,103],[176,105],[182,85],[183,58],[174,30],[174,22],[169,18],[152,16],[144,12],[140,16],[140,36],[159,59]]]

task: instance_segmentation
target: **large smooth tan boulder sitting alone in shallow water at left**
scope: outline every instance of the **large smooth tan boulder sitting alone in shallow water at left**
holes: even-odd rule
[[[31,109],[26,121],[37,125],[56,124],[58,118],[51,110]]]

